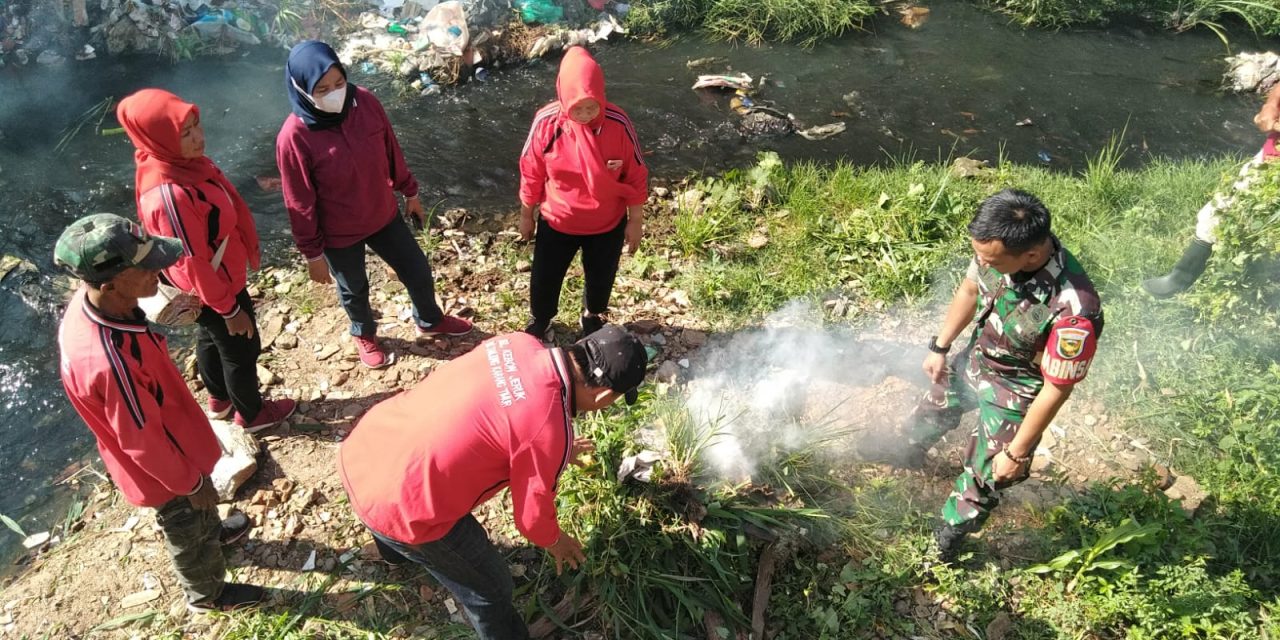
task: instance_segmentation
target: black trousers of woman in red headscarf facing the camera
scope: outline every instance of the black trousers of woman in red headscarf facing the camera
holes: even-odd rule
[[[547,220],[538,220],[534,239],[534,265],[529,279],[529,308],[534,321],[550,324],[559,312],[559,291],[573,256],[582,250],[582,307],[589,314],[609,310],[613,279],[618,275],[627,218],[618,225],[595,236],[571,236],[552,229]]]

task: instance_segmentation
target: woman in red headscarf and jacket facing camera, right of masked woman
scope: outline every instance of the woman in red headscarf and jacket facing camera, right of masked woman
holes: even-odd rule
[[[534,241],[532,320],[541,338],[559,311],[564,274],[582,251],[584,334],[604,326],[623,244],[640,246],[649,168],[627,114],[604,99],[604,72],[580,46],[564,51],[554,102],[534,116],[520,154],[520,236]],[[540,214],[536,215],[535,214]]]

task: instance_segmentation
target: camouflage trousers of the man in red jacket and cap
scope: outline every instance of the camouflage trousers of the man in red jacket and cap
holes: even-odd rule
[[[197,509],[179,495],[156,508],[156,522],[164,531],[187,603],[207,603],[221,595],[227,564],[218,539],[221,532],[218,509]]]

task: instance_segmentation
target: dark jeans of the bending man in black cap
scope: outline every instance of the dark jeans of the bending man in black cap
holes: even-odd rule
[[[525,618],[511,600],[515,591],[511,568],[470,513],[444,538],[430,543],[404,544],[378,531],[372,534],[385,548],[426,567],[458,599],[481,640],[529,637]]]

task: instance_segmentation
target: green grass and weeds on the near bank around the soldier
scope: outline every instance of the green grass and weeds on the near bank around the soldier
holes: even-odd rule
[[[577,425],[596,452],[562,477],[559,508],[562,526],[586,544],[584,567],[557,576],[544,553],[520,545],[509,515],[500,520],[506,507],[485,511],[494,535],[516,539],[507,553],[526,616],[545,637],[735,637],[756,612],[774,640],[991,637],[992,628],[1034,639],[1275,637],[1280,165],[1225,212],[1220,251],[1193,292],[1153,301],[1140,280],[1176,260],[1196,210],[1238,165],[1152,160],[1134,172],[1119,168],[1119,143],[1100,152],[1080,175],[996,161],[977,178],[924,163],[787,166],[764,155],[675,186],[653,205],[648,248],[623,271],[666,274],[663,291],[687,292],[689,317],[716,332],[755,328],[796,300],[826,310],[828,328],[920,316],[932,325],[972,255],[964,228],[977,205],[1006,187],[1030,191],[1106,311],[1096,367],[1059,424],[1089,431],[1079,407],[1105,412],[1123,439],[1098,440],[1096,456],[1152,452],[1208,494],[1194,513],[1156,486],[1155,468],[1060,477],[1061,492],[1042,507],[997,511],[989,539],[969,545],[957,566],[928,566],[946,477],[831,460],[819,438],[797,451],[780,445],[750,479],[709,480],[701,452],[714,425],[696,424],[678,393],[646,385],[636,406]],[[513,246],[503,236],[495,255]],[[567,289],[572,300],[580,280]],[[495,312],[493,301],[474,303]],[[618,480],[621,461],[645,448],[667,452],[652,481]],[[328,508],[351,518],[340,498]],[[358,524],[347,525],[353,532],[330,541],[340,580],[297,573],[274,585],[287,590],[283,604],[215,617],[210,634],[467,637],[438,595],[416,591],[436,589],[416,570],[348,571],[343,549],[362,541]],[[183,625],[155,612],[115,632],[180,637]]]

